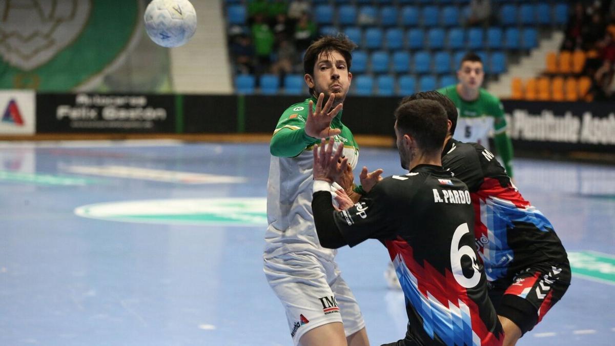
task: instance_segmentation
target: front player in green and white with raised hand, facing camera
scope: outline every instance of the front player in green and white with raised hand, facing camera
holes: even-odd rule
[[[359,155],[341,122],[354,47],[344,36],[308,47],[304,79],[311,98],[284,111],[270,143],[264,272],[295,345],[369,344],[359,305],[334,262],[336,251],[320,246],[311,210],[312,146],[320,137],[334,139],[352,167]]]

